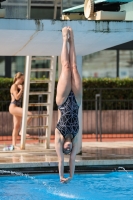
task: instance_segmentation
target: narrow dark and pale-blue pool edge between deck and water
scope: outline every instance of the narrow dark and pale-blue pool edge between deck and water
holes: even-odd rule
[[[76,160],[75,172],[110,172],[117,171],[120,166],[127,170],[133,170],[133,159]],[[58,162],[1,163],[0,170],[17,170],[26,173],[58,173]],[[64,170],[65,172],[69,171],[68,162],[64,163]]]

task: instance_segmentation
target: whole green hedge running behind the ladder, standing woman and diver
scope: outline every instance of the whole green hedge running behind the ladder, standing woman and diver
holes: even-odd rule
[[[40,80],[40,79],[32,79]],[[43,79],[44,80],[44,79]],[[13,83],[11,78],[0,78],[0,110],[8,110],[10,102],[10,87]],[[110,78],[89,78],[83,80],[83,109],[95,109],[95,95],[101,94],[102,109],[132,109],[133,101],[133,79],[110,79]],[[55,83],[56,96],[57,81]],[[30,84],[30,91],[47,91],[48,84]],[[54,96],[54,102],[55,102]],[[37,95],[29,97],[30,102],[38,102]],[[43,96],[43,102],[47,101],[47,96]],[[54,110],[57,109],[54,103]]]

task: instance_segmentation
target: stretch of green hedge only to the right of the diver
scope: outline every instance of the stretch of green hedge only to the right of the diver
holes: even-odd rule
[[[83,109],[95,109],[95,95],[100,94],[102,110],[133,109],[133,79],[90,78],[83,80]]]

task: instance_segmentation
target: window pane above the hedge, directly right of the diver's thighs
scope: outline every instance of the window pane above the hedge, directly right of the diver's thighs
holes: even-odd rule
[[[83,78],[116,77],[116,50],[104,50],[83,56]]]

